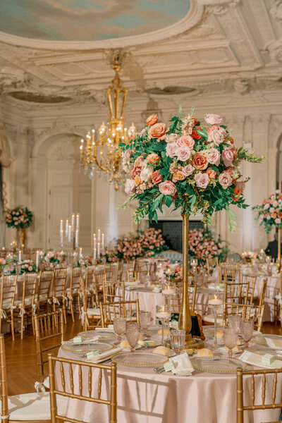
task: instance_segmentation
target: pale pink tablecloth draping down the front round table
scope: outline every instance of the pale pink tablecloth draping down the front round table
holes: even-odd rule
[[[59,357],[78,360],[78,355],[59,350]],[[81,359],[80,359],[81,360]],[[58,369],[59,370],[59,369]],[[109,371],[104,370],[102,396],[109,395]],[[93,375],[97,381],[97,371]],[[56,373],[58,376],[59,372]],[[195,371],[192,376],[157,374],[153,369],[130,368],[118,364],[118,423],[235,423],[236,375]],[[78,368],[73,368],[75,392],[78,393]],[[82,374],[87,395],[87,372]],[[273,376],[266,376],[266,402],[271,402]],[[57,377],[57,386],[60,383]],[[69,385],[66,379],[66,386]],[[93,384],[97,386],[97,384]],[[69,387],[69,386],[68,386]],[[278,374],[276,401],[282,400],[282,374]],[[244,379],[245,396],[250,401],[250,376]],[[262,377],[256,379],[258,400],[261,398]],[[97,395],[93,388],[92,395]],[[108,397],[109,398],[109,397]],[[106,406],[68,399],[67,417],[89,423],[107,423]],[[276,422],[281,410],[245,412],[245,423]]]

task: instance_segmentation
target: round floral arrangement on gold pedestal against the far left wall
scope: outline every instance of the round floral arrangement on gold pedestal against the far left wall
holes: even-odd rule
[[[31,225],[32,217],[32,212],[23,206],[6,211],[6,225],[8,228],[16,228],[17,231],[15,247],[25,248],[26,228]]]

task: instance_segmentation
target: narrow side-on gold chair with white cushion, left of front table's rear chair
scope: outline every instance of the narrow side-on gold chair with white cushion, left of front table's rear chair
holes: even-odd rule
[[[96,283],[96,278],[93,278],[94,284]],[[82,292],[82,307],[81,307],[81,323],[83,330],[95,328],[98,326],[99,321],[101,321],[101,311],[99,307],[99,295],[97,294],[98,286],[94,285],[94,307],[88,307],[87,304],[87,290],[85,281],[83,278],[80,278],[80,290]],[[90,322],[93,321],[93,324]]]

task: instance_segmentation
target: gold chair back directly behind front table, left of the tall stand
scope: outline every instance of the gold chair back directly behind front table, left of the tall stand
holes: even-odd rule
[[[125,317],[127,321],[139,321],[139,300],[100,302],[102,328],[113,324],[115,317]]]

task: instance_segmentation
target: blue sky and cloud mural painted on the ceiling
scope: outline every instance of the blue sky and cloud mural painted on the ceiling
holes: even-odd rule
[[[1,0],[0,30],[50,41],[98,41],[160,30],[190,0]]]

